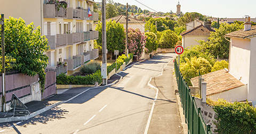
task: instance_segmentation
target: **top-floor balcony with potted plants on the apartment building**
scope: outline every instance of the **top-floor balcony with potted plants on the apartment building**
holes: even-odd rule
[[[44,18],[67,18],[67,9],[63,7],[58,9],[55,8],[55,4],[44,4]]]

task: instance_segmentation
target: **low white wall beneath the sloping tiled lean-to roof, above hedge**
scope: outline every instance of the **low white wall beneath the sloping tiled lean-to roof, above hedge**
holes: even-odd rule
[[[247,85],[223,91],[218,94],[208,95],[207,97],[215,101],[218,101],[219,98],[224,98],[228,102],[245,101],[247,98]]]

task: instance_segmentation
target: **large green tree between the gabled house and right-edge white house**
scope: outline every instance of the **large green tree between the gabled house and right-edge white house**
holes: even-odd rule
[[[205,43],[202,40],[198,42],[205,47],[205,51],[214,55],[215,57],[219,56],[220,58],[228,58],[229,56],[229,41],[230,38],[225,39],[225,35],[243,29],[242,24],[238,23],[222,23],[220,24],[219,29],[215,29],[215,32],[211,32],[208,41]]]

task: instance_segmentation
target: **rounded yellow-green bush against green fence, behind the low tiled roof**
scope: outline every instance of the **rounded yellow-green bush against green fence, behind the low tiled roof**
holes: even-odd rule
[[[180,63],[180,72],[183,79],[186,80],[188,85],[191,85],[190,79],[197,77],[200,74],[206,74],[211,72],[212,65],[209,61],[202,57],[191,57],[190,59],[185,57],[186,62]]]

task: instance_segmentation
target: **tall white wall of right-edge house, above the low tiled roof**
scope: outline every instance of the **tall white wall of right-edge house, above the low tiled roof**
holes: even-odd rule
[[[245,83],[249,82],[250,39],[231,38],[229,72]]]

